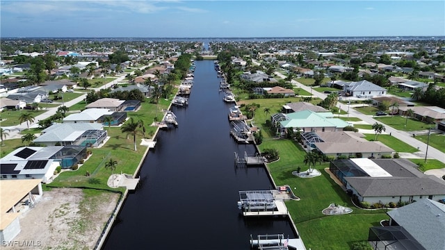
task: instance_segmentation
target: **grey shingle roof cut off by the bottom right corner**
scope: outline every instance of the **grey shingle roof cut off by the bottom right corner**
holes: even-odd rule
[[[445,249],[445,204],[421,199],[387,214],[426,249]]]

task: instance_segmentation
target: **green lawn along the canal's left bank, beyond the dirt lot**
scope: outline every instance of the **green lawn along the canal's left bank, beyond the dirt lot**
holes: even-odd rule
[[[152,124],[154,117],[157,115],[161,119],[163,113],[161,109],[167,109],[170,105],[170,101],[165,99],[159,99],[159,104],[154,103],[141,103],[141,108],[137,112],[127,113],[129,117],[133,117],[136,121],[142,119],[145,128],[147,129],[145,135],[148,138],[152,138],[156,131],[156,127],[149,126]],[[138,167],[140,160],[143,158],[146,146],[140,145],[142,136],[136,136],[137,151],[134,151],[133,137],[123,134],[120,131],[120,127],[108,126],[105,127],[108,131],[108,142],[101,148],[91,149],[92,155],[85,161],[81,167],[76,171],[65,171],[52,182],[49,183],[49,187],[76,187],[76,188],[98,188],[105,190],[115,190],[109,188],[106,184],[108,177],[111,175],[111,171],[105,169],[105,164],[108,160],[113,159],[118,161],[118,165],[115,169],[115,173],[133,174]],[[90,176],[86,176],[86,172],[90,173]],[[121,190],[121,189],[119,189]],[[124,188],[122,188],[124,190]],[[121,190],[121,191],[122,191]]]

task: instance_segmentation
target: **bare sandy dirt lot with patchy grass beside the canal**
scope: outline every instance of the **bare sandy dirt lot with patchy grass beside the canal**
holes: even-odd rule
[[[20,217],[22,231],[14,239],[34,246],[2,249],[93,249],[119,196],[77,188],[44,191],[37,205]]]

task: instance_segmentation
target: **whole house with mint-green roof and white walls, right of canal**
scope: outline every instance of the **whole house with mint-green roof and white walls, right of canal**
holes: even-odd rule
[[[341,131],[346,126],[349,126],[349,124],[342,119],[334,118],[334,115],[330,112],[316,113],[311,110],[302,110],[284,116],[286,119],[280,122],[280,131],[282,135],[287,132],[288,128],[292,128],[293,131],[301,130],[302,132],[325,132]]]

